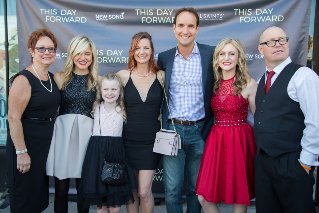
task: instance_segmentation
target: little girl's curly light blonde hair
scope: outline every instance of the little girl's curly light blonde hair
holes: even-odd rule
[[[116,106],[120,106],[122,113],[123,113],[123,121],[124,123],[126,123],[126,111],[125,111],[125,103],[124,103],[124,87],[122,84],[121,79],[115,74],[115,72],[109,72],[108,74],[104,75],[103,78],[101,79],[101,81],[98,84],[98,89],[96,91],[96,96],[95,96],[95,101],[93,103],[93,107],[92,107],[92,111],[91,111],[91,115],[93,117],[93,112],[95,111],[95,106],[97,104],[99,104],[100,102],[104,101],[104,99],[102,98],[101,95],[101,86],[102,86],[102,82],[104,80],[116,80],[119,83],[119,88],[120,88],[120,95],[119,98],[116,100],[117,105]],[[116,109],[115,109],[116,111]],[[116,111],[117,113],[121,113]]]

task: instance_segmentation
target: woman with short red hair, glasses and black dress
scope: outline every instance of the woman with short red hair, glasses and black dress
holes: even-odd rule
[[[48,72],[55,60],[56,38],[46,29],[29,37],[29,67],[9,84],[7,166],[11,212],[42,212],[48,207],[45,166],[61,97]]]

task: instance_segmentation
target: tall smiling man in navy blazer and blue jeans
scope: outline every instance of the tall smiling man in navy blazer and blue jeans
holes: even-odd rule
[[[187,212],[200,213],[195,192],[204,145],[213,124],[210,102],[213,86],[211,65],[215,47],[195,42],[199,17],[194,8],[182,8],[175,14],[174,33],[177,47],[158,56],[158,66],[165,71],[163,128],[181,135],[182,149],[177,156],[162,156],[164,187],[168,213],[182,213],[184,164],[187,169]],[[170,111],[170,112],[169,112]]]

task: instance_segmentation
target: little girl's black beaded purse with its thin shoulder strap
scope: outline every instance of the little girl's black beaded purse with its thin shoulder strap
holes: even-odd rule
[[[101,108],[101,103],[100,103]],[[100,108],[99,108],[99,124],[100,124]],[[101,174],[101,182],[109,186],[122,186],[130,182],[126,164],[107,163],[105,161],[104,150],[102,146],[102,133],[100,126],[101,147],[103,152],[103,169]]]

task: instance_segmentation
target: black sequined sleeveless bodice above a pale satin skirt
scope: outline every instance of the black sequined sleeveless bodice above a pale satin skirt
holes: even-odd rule
[[[92,105],[95,93],[92,89],[87,90],[87,75],[77,75],[72,72],[72,81],[65,90],[60,90],[61,105],[59,115],[80,114],[91,118]]]

